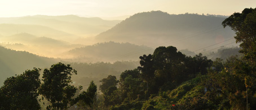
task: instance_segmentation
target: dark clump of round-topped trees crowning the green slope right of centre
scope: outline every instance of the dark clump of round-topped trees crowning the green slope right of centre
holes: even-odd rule
[[[158,47],[153,55],[140,56],[141,78],[147,83],[146,95],[157,94],[159,90],[174,89],[179,84],[193,79],[196,74],[206,74],[212,65],[210,59],[198,54],[186,57],[175,47]]]

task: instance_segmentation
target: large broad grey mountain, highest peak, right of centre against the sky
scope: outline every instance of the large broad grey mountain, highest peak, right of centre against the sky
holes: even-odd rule
[[[197,14],[170,15],[151,11],[137,13],[99,35],[96,40],[158,46],[173,45],[191,51],[232,39],[235,33],[223,28],[224,17]],[[235,42],[235,39],[225,43]]]

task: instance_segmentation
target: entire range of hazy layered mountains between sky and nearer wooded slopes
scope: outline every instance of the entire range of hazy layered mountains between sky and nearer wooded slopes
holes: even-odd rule
[[[194,53],[209,45],[213,46],[205,48],[206,51],[223,45],[231,47],[235,45],[231,44],[235,42],[235,33],[223,28],[224,19],[161,11],[137,13],[123,21],[74,15],[0,18],[0,44],[72,61],[136,61],[159,46],[173,45]],[[90,37],[83,37],[86,35]]]

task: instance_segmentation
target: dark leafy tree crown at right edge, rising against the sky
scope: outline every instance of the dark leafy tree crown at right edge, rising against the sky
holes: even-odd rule
[[[231,27],[235,31],[236,42],[241,43],[241,53],[245,58],[255,62],[256,58],[256,8],[245,8],[242,13],[233,13],[222,22],[224,28]]]

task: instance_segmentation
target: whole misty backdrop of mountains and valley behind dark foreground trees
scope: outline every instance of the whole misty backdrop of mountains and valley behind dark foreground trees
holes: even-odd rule
[[[102,79],[109,75],[120,79],[123,71],[140,66],[143,55],[153,54],[158,47],[176,47],[189,58],[202,53],[213,61],[241,56],[235,32],[222,26],[227,17],[162,11],[140,12],[125,20],[76,15],[1,17],[0,85],[27,69],[43,70],[62,62],[77,70],[72,85],[86,90],[94,80],[99,89]]]

